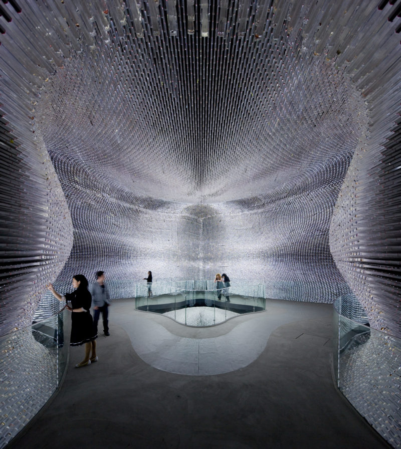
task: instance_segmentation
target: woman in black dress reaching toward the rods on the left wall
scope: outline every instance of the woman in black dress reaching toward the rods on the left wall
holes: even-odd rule
[[[93,326],[90,308],[92,296],[88,290],[88,281],[84,275],[76,275],[72,278],[74,291],[60,295],[49,284],[48,289],[59,301],[67,302],[67,309],[71,310],[71,340],[70,346],[80,346],[85,343],[85,358],[75,365],[76,368],[97,362],[96,341],[97,333]]]

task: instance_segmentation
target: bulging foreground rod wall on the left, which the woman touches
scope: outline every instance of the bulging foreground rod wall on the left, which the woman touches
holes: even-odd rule
[[[14,21],[7,24],[10,35],[15,32],[20,36],[15,25]],[[73,226],[49,153],[35,132],[33,114],[39,89],[32,82],[39,85],[45,71],[39,66],[34,69],[32,62],[29,69],[25,67],[23,56],[13,50],[15,43],[6,47],[6,35],[0,36],[0,335],[3,335],[32,323],[46,291],[45,284],[54,280],[69,257]],[[30,56],[34,55],[31,52]],[[37,58],[39,61],[39,54]],[[59,307],[52,303],[48,315]]]

